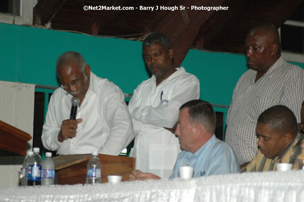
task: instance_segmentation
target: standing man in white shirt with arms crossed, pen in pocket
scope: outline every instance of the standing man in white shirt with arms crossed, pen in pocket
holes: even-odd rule
[[[147,36],[143,54],[153,76],[134,90],[128,105],[135,135],[131,156],[136,157],[136,169],[168,178],[180,152],[174,134],[179,107],[199,98],[199,80],[174,67],[174,52],[164,34]]]

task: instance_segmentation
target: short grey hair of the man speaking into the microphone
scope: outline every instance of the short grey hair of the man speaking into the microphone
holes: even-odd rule
[[[58,72],[58,69],[62,66],[70,65],[70,62],[74,61],[76,62],[77,66],[80,68],[81,72],[84,71],[85,66],[87,63],[85,62],[82,55],[75,51],[67,51],[63,53],[56,62],[56,71]]]

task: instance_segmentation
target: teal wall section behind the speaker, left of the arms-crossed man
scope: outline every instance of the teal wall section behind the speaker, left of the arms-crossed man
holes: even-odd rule
[[[0,80],[58,86],[55,63],[68,50],[80,52],[92,71],[125,93],[149,78],[141,42],[96,38],[0,23]]]

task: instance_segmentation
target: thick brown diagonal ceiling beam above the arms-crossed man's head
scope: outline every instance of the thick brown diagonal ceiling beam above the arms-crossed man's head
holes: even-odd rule
[[[185,10],[168,12],[168,15],[158,22],[155,30],[149,30],[164,33],[169,37],[171,47],[174,49],[175,66],[180,66],[201,26],[215,12],[214,10],[191,10],[191,6],[220,6],[223,2],[224,0],[185,0],[177,4],[178,8],[179,6],[185,6]]]

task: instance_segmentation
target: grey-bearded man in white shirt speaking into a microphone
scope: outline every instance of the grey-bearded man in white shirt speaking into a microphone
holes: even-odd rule
[[[51,96],[42,142],[57,154],[118,155],[133,139],[131,117],[122,91],[91,72],[83,57],[65,52],[56,62],[61,88]],[[76,120],[69,119],[71,98],[80,99]]]

